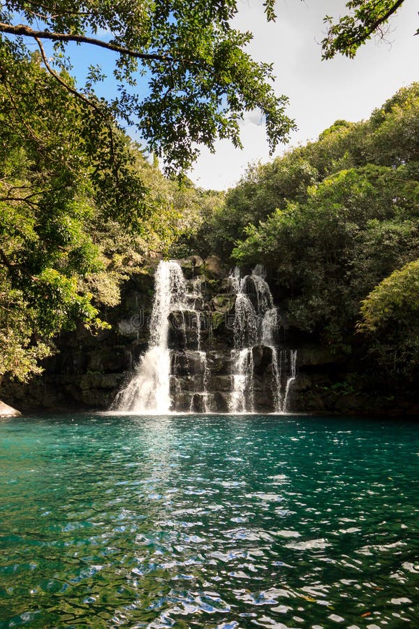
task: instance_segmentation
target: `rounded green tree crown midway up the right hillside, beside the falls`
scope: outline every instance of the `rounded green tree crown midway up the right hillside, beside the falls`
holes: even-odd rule
[[[405,181],[403,168],[340,171],[309,187],[306,201],[288,202],[250,226],[233,256],[275,268],[300,327],[323,328],[323,340],[340,342],[353,325],[360,298],[415,256],[418,192],[419,183]]]

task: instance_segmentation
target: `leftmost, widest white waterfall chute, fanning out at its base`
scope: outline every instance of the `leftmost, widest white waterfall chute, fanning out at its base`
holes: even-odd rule
[[[182,310],[186,285],[177,262],[161,261],[154,278],[154,303],[150,321],[149,349],[141,357],[130,382],[112,404],[113,410],[138,414],[170,412],[169,315]]]

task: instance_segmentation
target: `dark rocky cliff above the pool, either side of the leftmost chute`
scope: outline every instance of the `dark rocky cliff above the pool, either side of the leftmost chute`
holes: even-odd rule
[[[173,410],[419,412],[409,403],[385,405],[348,384],[345,359],[288,326],[271,308],[260,276],[249,273],[238,288],[216,256],[179,264],[187,292],[168,317]],[[62,335],[42,377],[26,385],[3,382],[3,399],[20,410],[108,409],[149,347],[154,272],[134,274],[119,307],[103,313],[112,329]],[[269,327],[271,315],[277,323]]]

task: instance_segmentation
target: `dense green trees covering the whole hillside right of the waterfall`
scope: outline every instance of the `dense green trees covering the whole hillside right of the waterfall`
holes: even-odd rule
[[[204,222],[201,238],[202,247],[209,242],[242,265],[265,263],[300,330],[336,352],[370,351],[383,369],[413,377],[417,267],[409,263],[419,257],[419,84],[401,89],[366,122],[338,120],[316,142],[251,166],[228,191],[225,208]],[[373,324],[378,295],[394,300],[389,287],[396,286],[391,315]],[[390,334],[397,317],[403,324]]]

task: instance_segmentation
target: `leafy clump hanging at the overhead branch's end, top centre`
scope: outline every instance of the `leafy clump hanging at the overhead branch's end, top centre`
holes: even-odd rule
[[[272,150],[294,128],[285,113],[287,99],[277,97],[270,85],[271,66],[244,52],[251,36],[205,26],[193,17],[189,10],[192,22],[176,24],[170,44],[175,60],[150,63],[150,94],[138,107],[142,135],[169,172],[187,170],[198,145],[212,150],[216,138],[241,146],[239,122],[246,111],[260,110]]]

